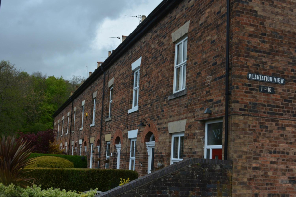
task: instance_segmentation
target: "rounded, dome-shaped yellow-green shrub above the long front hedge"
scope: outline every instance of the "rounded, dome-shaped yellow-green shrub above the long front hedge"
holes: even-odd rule
[[[74,164],[69,160],[60,157],[42,156],[37,157],[33,164],[26,167],[48,167],[48,168],[74,168]]]

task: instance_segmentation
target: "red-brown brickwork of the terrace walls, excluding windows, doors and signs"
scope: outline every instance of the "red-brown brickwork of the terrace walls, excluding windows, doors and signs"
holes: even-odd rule
[[[234,197],[296,196],[296,16],[293,9],[295,3],[292,1],[231,1],[232,94],[229,102],[228,158],[233,160]],[[189,20],[187,94],[168,100],[173,93],[175,53],[171,33]],[[113,157],[110,157],[109,166],[116,168],[114,141],[119,136],[120,168],[128,169],[128,131],[139,129],[135,168],[142,176],[148,171],[146,135],[152,132],[157,138],[154,165],[163,160],[167,166],[170,164],[172,138],[168,133],[168,123],[187,119],[184,157],[202,158],[205,121],[224,119],[225,116],[225,47],[226,0],[183,0],[106,70],[101,139],[103,75],[74,99],[73,107],[77,107],[77,111],[70,147],[71,141],[79,147],[79,139],[84,138],[89,156],[90,143],[96,146],[100,139],[100,167],[104,168],[105,135],[111,134],[110,152]],[[139,110],[128,114],[133,96],[131,64],[140,57]],[[251,81],[247,79],[248,72],[283,77],[286,84]],[[113,77],[112,120],[105,122],[109,109],[108,81]],[[259,85],[274,87],[276,93],[259,93]],[[90,127],[92,94],[95,91],[98,91],[96,120],[95,126]],[[89,116],[84,119],[83,130],[79,131],[81,102],[84,99],[85,112]],[[206,108],[212,110],[211,115],[204,114]],[[71,112],[71,105],[55,117],[55,122],[65,114],[66,118],[68,111]],[[151,127],[138,128],[142,119],[146,119]],[[58,137],[58,143],[69,143],[69,136]],[[89,141],[91,137],[94,137],[94,142]],[[97,149],[94,158],[98,158]],[[93,167],[97,167],[97,161]]]

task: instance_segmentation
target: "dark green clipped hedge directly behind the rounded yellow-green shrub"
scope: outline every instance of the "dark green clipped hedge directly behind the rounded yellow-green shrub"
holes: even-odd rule
[[[64,158],[64,159],[69,160],[70,162],[72,162],[74,164],[74,168],[87,168],[87,158],[86,158],[86,156],[32,153],[30,155],[30,158],[32,158],[32,157],[40,157],[40,156],[61,157],[61,158]]]

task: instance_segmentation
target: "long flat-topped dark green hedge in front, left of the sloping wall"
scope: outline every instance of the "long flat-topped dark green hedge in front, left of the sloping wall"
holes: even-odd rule
[[[138,178],[137,172],[120,169],[25,168],[25,171],[28,177],[35,178],[34,184],[42,185],[42,189],[53,187],[81,192],[91,188],[105,192],[119,186],[120,178],[130,181]]]

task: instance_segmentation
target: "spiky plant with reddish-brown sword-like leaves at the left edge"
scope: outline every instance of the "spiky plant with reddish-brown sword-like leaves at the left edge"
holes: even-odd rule
[[[32,164],[34,159],[29,158],[33,147],[27,141],[16,140],[14,137],[0,137],[0,182],[5,186],[19,184],[32,180],[24,176],[26,165]]]

